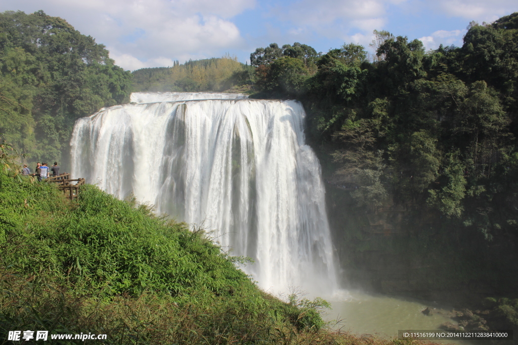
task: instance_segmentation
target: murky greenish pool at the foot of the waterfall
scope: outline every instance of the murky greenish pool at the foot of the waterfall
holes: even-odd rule
[[[444,322],[452,322],[442,314],[447,311],[434,306],[434,303],[423,304],[401,298],[369,295],[355,291],[340,291],[327,298],[332,310],[327,311],[328,321],[339,321],[335,328],[349,331],[357,335],[370,334],[383,338],[397,337],[399,329],[438,330]],[[421,311],[427,307],[437,309],[434,314],[426,316]],[[437,341],[437,340],[435,340]],[[439,341],[437,341],[439,342]],[[441,341],[445,342],[445,341]],[[468,341],[447,341],[448,343],[469,345]]]

